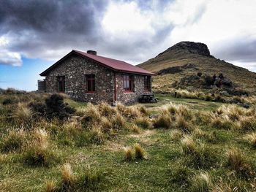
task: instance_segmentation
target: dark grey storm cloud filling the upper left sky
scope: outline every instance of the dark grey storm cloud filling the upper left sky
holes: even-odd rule
[[[0,1],[0,37],[10,39],[8,50],[26,57],[58,58],[63,54],[58,51],[97,43],[107,5],[100,0]]]

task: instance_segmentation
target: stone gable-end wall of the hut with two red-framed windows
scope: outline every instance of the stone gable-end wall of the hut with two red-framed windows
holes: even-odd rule
[[[86,93],[85,74],[95,74],[94,93]],[[113,72],[100,64],[78,55],[69,56],[45,78],[47,92],[58,92],[58,76],[65,76],[65,93],[72,99],[113,103]]]

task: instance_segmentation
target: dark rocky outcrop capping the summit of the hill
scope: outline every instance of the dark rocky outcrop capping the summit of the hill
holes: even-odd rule
[[[185,50],[185,51],[188,51],[189,53],[213,57],[210,54],[210,51],[208,50],[207,45],[201,42],[179,42],[176,45],[173,45],[172,47],[168,48],[164,52],[159,53],[159,55],[176,51],[176,50]]]

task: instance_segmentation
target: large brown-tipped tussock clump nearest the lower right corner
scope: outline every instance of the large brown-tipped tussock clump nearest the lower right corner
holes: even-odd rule
[[[227,166],[238,172],[238,174],[241,174],[242,177],[249,177],[252,175],[252,169],[246,162],[244,155],[235,148],[227,151]]]

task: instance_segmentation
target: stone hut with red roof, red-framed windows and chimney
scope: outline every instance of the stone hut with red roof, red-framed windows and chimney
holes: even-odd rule
[[[94,50],[72,50],[40,75],[45,77],[40,88],[49,93],[66,93],[72,99],[93,103],[132,104],[142,94],[151,93],[154,73],[99,56]]]

